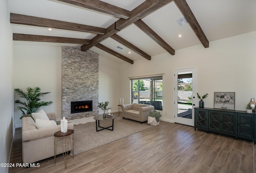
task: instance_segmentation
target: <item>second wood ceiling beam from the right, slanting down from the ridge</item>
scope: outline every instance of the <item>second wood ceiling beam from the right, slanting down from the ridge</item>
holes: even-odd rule
[[[134,22],[136,26],[138,26],[143,32],[145,32],[150,38],[152,38],[155,42],[157,42],[160,46],[162,46],[167,52],[171,55],[175,54],[175,50],[169,46],[160,36],[158,36],[147,24],[145,24],[142,20],[138,20]]]

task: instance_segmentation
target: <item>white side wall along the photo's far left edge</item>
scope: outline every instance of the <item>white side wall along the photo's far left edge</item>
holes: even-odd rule
[[[0,163],[8,163],[14,134],[12,27],[8,0],[0,1]],[[0,172],[8,169],[0,167]]]

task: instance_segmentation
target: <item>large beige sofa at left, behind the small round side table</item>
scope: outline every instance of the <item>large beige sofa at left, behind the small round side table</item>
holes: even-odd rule
[[[56,121],[56,113],[46,113],[50,120]],[[68,123],[68,129],[74,129]],[[48,128],[36,128],[32,117],[22,118],[22,161],[34,163],[54,156],[54,133],[60,131],[60,125]],[[62,147],[57,147],[57,155],[62,153]]]

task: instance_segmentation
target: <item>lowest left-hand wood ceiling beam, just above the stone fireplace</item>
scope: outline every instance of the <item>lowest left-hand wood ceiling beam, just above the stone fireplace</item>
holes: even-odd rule
[[[38,36],[30,34],[12,34],[12,40],[31,41],[31,42],[53,42],[53,43],[73,43],[73,44],[90,44],[88,39]]]

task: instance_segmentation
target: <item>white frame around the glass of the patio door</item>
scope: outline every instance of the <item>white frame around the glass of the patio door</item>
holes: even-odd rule
[[[178,73],[181,72],[192,72],[192,119],[178,117]],[[194,107],[196,105],[196,74],[197,68],[181,68],[174,69],[174,123],[180,123],[184,125],[190,125],[194,127]]]

